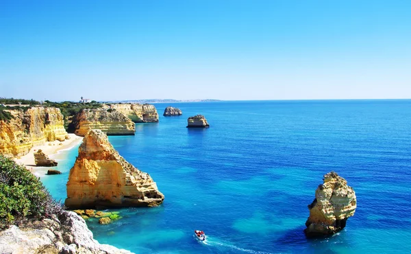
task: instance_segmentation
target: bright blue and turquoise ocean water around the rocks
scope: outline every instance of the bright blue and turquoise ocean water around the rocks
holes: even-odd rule
[[[410,100],[155,106],[159,123],[110,141],[153,177],[164,204],[118,209],[123,218],[108,225],[88,220],[99,242],[135,253],[410,253]],[[163,117],[166,106],[184,115]],[[210,128],[186,128],[196,114]],[[60,154],[62,175],[41,178],[55,198],[66,197],[77,147]],[[307,205],[332,170],[358,208],[340,233],[307,240]]]

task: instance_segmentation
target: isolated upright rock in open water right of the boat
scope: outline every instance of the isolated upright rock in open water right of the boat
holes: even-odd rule
[[[356,192],[336,172],[324,175],[324,183],[315,192],[310,217],[304,230],[308,238],[332,235],[345,227],[357,208]]]

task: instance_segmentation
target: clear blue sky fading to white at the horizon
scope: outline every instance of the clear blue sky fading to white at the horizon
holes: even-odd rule
[[[411,98],[411,1],[0,1],[0,97]]]

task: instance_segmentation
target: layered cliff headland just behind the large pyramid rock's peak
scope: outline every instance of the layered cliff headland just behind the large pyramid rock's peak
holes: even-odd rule
[[[107,135],[134,135],[136,126],[119,111],[106,108],[82,109],[73,120],[75,135],[84,136],[88,130],[99,129]]]

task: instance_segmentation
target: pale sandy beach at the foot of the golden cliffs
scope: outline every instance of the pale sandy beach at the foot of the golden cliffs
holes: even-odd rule
[[[45,145],[42,146],[34,146],[28,154],[23,155],[22,157],[15,158],[14,161],[18,164],[25,165],[26,168],[31,169],[36,167],[34,163],[34,152],[41,149],[47,156],[53,158],[54,154],[57,154],[60,150],[70,149],[73,146],[76,146],[83,140],[83,137],[77,136],[73,133],[69,133],[70,139],[66,139],[64,141],[51,141],[46,142]],[[61,143],[61,145],[60,145]]]

